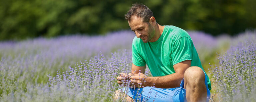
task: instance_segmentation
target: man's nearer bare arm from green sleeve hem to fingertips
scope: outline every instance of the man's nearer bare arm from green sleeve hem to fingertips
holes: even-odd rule
[[[159,76],[159,77],[143,77],[142,75],[130,76],[131,82],[137,85],[137,83],[142,83],[142,78],[146,79],[144,86],[155,86],[158,88],[174,88],[179,87],[181,80],[184,78],[185,70],[190,67],[191,60],[185,60],[180,63],[173,65],[175,73]],[[135,79],[135,80],[134,80]],[[143,82],[144,83],[144,82]],[[155,85],[153,85],[155,84]]]

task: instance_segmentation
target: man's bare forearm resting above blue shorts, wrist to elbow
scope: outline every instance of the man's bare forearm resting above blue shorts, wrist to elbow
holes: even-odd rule
[[[148,77],[146,79],[148,86],[154,86],[157,88],[175,88],[179,87],[181,80],[184,78],[184,74],[173,73],[166,76]]]

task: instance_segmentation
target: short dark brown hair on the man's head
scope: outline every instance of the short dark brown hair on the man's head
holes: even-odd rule
[[[153,12],[143,4],[133,4],[128,13],[125,15],[125,20],[131,21],[132,16],[141,17],[143,22],[149,23],[149,19],[154,16]]]

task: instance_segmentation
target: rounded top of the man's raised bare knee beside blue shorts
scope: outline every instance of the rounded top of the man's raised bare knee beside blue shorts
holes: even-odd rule
[[[188,84],[199,84],[204,82],[204,71],[198,66],[189,67],[184,73],[184,79]]]

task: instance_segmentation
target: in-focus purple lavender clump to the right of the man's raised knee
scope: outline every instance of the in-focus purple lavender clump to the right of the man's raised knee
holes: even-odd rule
[[[256,101],[256,32],[232,39],[233,46],[218,54],[219,65],[211,66],[212,80],[219,99],[230,102]],[[240,41],[240,42],[237,42]]]

